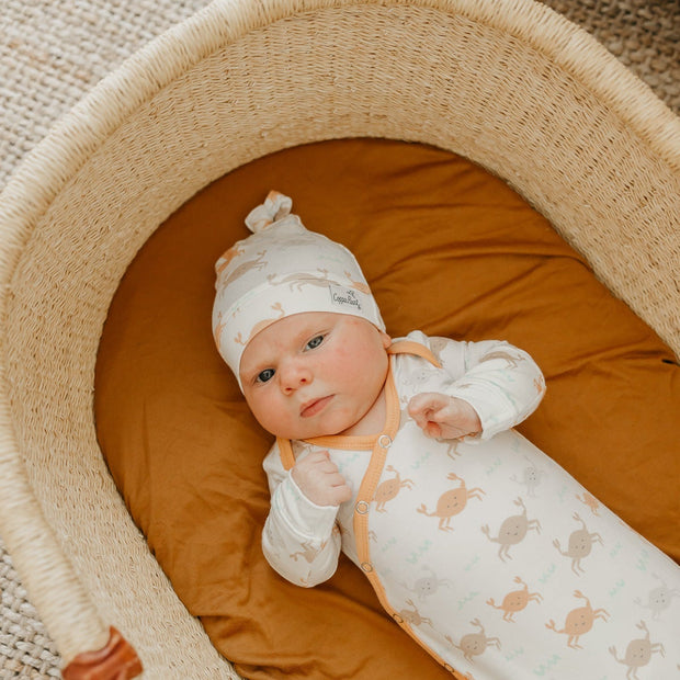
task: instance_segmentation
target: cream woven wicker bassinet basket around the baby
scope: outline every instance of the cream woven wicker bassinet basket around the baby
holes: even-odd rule
[[[531,0],[217,0],[102,81],[1,196],[0,533],[66,664],[114,625],[148,678],[238,677],[107,473],[98,343],[182,203],[354,136],[503,178],[680,354],[680,122],[588,34]]]

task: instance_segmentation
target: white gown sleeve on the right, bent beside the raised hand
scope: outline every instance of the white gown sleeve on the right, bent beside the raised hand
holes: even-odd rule
[[[479,416],[487,440],[525,420],[545,394],[541,369],[523,350],[502,341],[458,342],[430,338],[451,383],[446,394],[467,401]]]

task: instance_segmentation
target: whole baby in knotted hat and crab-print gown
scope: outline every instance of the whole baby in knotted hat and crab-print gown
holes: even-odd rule
[[[272,192],[248,215],[213,313],[276,437],[271,566],[311,587],[344,552],[456,678],[678,677],[680,568],[607,508],[586,514],[592,497],[512,430],[545,392],[533,360],[390,339],[354,257],[291,208]]]

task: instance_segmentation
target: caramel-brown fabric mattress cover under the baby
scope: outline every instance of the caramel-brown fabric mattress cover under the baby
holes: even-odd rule
[[[211,311],[214,263],[247,236],[243,217],[270,189],[354,252],[393,337],[420,329],[529,351],[547,395],[518,429],[597,498],[583,498],[583,512],[602,502],[680,558],[680,369],[546,219],[435,148],[347,139],[279,151],[207,186],[146,242],[112,302],[95,376],[98,437],[117,487],[240,675],[450,677],[349,560],[306,590],[262,555],[261,463],[273,440],[217,354]]]

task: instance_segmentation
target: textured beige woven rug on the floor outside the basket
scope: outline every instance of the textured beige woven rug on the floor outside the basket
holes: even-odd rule
[[[680,113],[680,0],[545,0]],[[0,190],[103,76],[208,0],[0,0]],[[0,680],[59,678],[58,653],[0,540]]]

